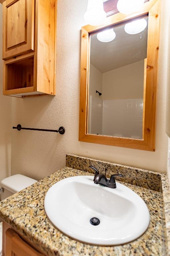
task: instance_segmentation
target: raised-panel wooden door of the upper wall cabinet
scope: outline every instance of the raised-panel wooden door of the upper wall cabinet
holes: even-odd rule
[[[34,50],[35,0],[3,3],[3,59]]]

